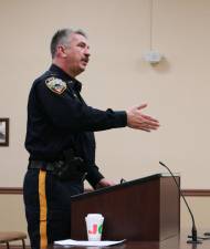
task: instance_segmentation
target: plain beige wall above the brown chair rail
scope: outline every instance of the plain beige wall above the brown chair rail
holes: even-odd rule
[[[154,0],[153,48],[165,61],[143,60],[150,40],[149,0],[0,0],[0,116],[10,117],[10,146],[0,148],[0,186],[22,186],[27,98],[32,81],[51,63],[49,43],[59,28],[90,35],[92,60],[80,76],[90,105],[124,110],[148,103],[161,123],[147,134],[102,132],[97,164],[107,178],[133,179],[165,172],[183,188],[209,188],[210,1]],[[199,176],[199,178],[198,178]]]

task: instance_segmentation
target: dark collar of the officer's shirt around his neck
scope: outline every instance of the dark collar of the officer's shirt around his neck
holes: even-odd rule
[[[61,68],[59,68],[55,64],[52,64],[50,66],[50,72],[55,74],[55,76],[61,77],[64,81],[67,81],[69,83],[73,84],[73,89],[81,92],[82,90],[82,83],[77,81],[75,77],[70,76],[66,72],[64,72]]]

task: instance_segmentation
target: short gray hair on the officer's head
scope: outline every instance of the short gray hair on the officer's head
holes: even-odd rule
[[[81,34],[87,38],[86,33],[83,30],[72,30],[72,29],[62,29],[57,30],[51,40],[51,55],[52,59],[55,56],[56,46],[62,44],[65,45],[69,42],[69,38],[72,33]]]

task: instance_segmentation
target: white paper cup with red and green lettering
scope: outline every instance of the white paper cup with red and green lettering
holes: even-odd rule
[[[99,241],[102,239],[104,217],[101,214],[88,214],[85,220],[88,240]]]

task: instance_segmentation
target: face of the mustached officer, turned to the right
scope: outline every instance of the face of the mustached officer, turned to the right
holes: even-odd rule
[[[65,63],[72,76],[85,70],[90,55],[87,39],[82,34],[72,33],[69,38],[69,45],[65,46]]]

